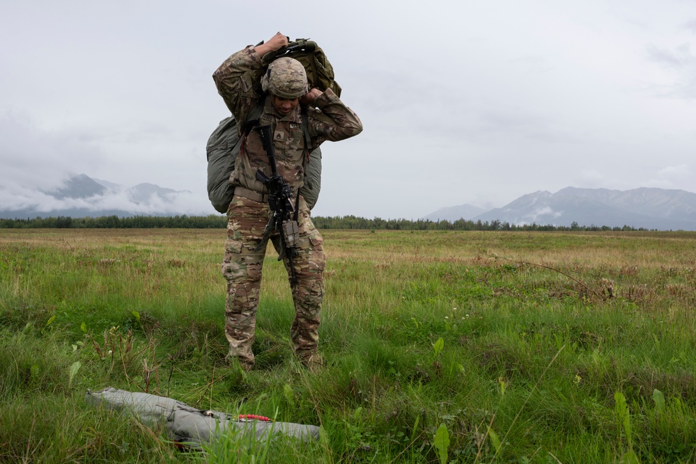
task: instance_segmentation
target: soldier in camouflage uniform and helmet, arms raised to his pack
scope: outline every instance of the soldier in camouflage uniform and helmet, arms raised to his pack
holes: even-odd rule
[[[263,111],[258,124],[273,128],[272,139],[277,170],[293,191],[293,205],[298,207],[299,240],[293,259],[296,284],[291,287],[295,303],[295,320],[291,338],[296,357],[314,367],[320,363],[317,354],[318,327],[321,302],[324,296],[324,268],[326,257],[323,239],[309,216],[309,208],[302,195],[305,147],[302,131],[301,106],[307,107],[307,127],[311,146],[323,141],[340,141],[362,131],[362,122],[332,90],[325,92],[309,89],[302,64],[293,58],[278,58],[263,72],[261,57],[288,45],[285,35],[277,33],[268,42],[246,47],[233,54],[212,75],[225,104],[239,122],[247,120],[249,112],[259,102]],[[266,96],[268,95],[268,96]],[[227,280],[225,334],[230,344],[229,359],[237,358],[244,369],[254,367],[254,328],[256,307],[261,290],[261,270],[266,243],[264,229],[272,216],[268,205],[268,191],[256,179],[256,170],[270,177],[268,155],[256,131],[245,131],[238,125],[242,147],[235,162],[230,182],[235,195],[227,210],[227,240],[222,263],[222,275]],[[270,240],[280,249],[277,233]],[[288,278],[290,263],[284,257]]]

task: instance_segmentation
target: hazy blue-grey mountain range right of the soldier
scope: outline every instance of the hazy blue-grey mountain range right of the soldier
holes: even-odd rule
[[[466,216],[464,214],[467,214]],[[501,221],[511,224],[596,225],[656,230],[696,230],[696,193],[668,189],[578,189],[523,195],[502,208],[480,211],[470,205],[438,209],[431,221]]]

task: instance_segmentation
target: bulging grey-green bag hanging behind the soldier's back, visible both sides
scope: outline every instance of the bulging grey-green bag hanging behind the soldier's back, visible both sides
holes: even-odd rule
[[[234,162],[239,155],[240,144],[237,134],[237,121],[234,116],[220,121],[212,131],[206,152],[208,155],[208,198],[215,210],[226,213],[234,196],[234,186],[229,178],[234,170]],[[309,209],[314,208],[321,189],[321,148],[309,153],[309,162],[304,166],[304,185],[300,195]]]

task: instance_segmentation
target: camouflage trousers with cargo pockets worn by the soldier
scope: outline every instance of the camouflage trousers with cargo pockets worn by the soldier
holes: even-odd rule
[[[291,326],[291,338],[297,358],[311,364],[317,352],[326,257],[323,239],[311,222],[309,208],[302,197],[299,209],[297,222],[300,239],[296,246],[297,255],[293,257],[297,285],[292,288],[295,319]],[[268,203],[255,202],[238,195],[234,196],[227,210],[227,240],[222,262],[222,275],[227,280],[225,335],[230,344],[229,358],[238,358],[247,369],[254,366],[252,344],[256,307],[261,293],[261,271],[268,243],[262,243],[262,239],[271,216]],[[278,250],[279,234],[274,233],[270,240]],[[291,273],[287,257],[284,262],[289,281]]]

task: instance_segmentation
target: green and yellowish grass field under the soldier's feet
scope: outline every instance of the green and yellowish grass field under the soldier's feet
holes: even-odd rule
[[[0,230],[0,461],[696,462],[696,233],[323,232],[326,366],[269,254],[224,360],[224,230]],[[182,452],[114,386],[322,426]]]

